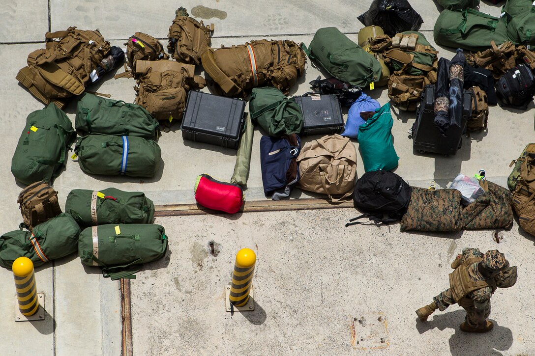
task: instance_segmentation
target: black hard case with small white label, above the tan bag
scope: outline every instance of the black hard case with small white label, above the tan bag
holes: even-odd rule
[[[343,129],[342,107],[334,94],[308,92],[292,98],[303,111],[302,136],[339,134]]]

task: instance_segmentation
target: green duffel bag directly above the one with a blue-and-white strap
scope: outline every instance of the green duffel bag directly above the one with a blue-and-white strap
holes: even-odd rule
[[[143,106],[84,93],[78,102],[74,127],[87,134],[127,135],[158,140],[159,123]]]

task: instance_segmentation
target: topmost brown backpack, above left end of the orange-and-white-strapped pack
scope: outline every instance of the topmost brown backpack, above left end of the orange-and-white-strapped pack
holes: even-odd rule
[[[179,62],[199,64],[202,53],[210,48],[213,24],[204,26],[202,21],[190,18],[184,7],[179,7],[175,13],[177,16],[167,35],[167,51]]]

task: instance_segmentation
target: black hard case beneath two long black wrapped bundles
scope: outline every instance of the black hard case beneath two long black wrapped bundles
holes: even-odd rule
[[[425,86],[422,92],[422,102],[418,107],[416,122],[412,129],[412,145],[419,153],[432,152],[440,154],[455,154],[461,148],[462,136],[472,112],[472,93],[464,90],[463,115],[461,127],[450,126],[446,137],[440,134],[434,125],[434,85]]]

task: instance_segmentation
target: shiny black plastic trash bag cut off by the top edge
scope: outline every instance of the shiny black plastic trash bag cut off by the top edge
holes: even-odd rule
[[[391,37],[404,31],[417,31],[424,22],[407,0],[373,0],[370,9],[358,20],[364,26],[380,26]]]

